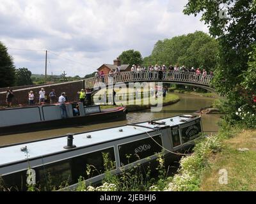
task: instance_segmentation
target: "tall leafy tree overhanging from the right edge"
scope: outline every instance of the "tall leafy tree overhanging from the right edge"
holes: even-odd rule
[[[223,7],[227,10],[224,15]],[[239,106],[252,102],[252,89],[246,87],[252,83],[248,77],[252,66],[248,61],[256,39],[255,11],[255,0],[189,0],[184,9],[186,15],[202,13],[201,20],[209,25],[209,32],[219,41],[218,66],[212,85],[227,97],[229,122],[236,121]]]

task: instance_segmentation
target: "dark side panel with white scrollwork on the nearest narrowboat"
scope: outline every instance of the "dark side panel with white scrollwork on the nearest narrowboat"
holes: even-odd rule
[[[152,138],[155,141],[152,140]],[[162,147],[159,146],[162,145],[161,135],[156,135],[152,138],[145,138],[118,145],[121,166],[161,152]],[[159,143],[159,145],[157,143]]]

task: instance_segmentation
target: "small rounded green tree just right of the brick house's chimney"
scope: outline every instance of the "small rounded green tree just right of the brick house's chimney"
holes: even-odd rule
[[[139,51],[126,50],[119,55],[122,64],[142,64],[143,60]]]

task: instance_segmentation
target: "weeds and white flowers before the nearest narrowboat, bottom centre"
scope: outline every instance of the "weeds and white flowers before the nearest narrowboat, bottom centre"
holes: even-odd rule
[[[131,155],[127,155],[129,159]],[[113,163],[108,154],[102,154],[105,168],[105,177],[101,186],[86,186],[84,178],[80,177],[76,191],[161,191],[166,187],[168,179],[164,166],[163,154],[157,156],[157,178],[151,179],[150,162],[147,166],[140,163],[134,164],[132,168],[125,170],[120,168],[121,173],[115,175],[115,163]],[[149,159],[149,158],[148,158]],[[86,171],[91,173],[91,171]],[[155,180],[157,179],[157,180]]]

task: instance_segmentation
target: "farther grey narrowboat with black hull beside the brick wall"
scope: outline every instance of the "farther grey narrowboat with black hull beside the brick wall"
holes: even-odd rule
[[[125,120],[127,113],[124,106],[100,110],[99,105],[67,103],[66,108],[66,119],[59,104],[0,109],[0,135]]]

